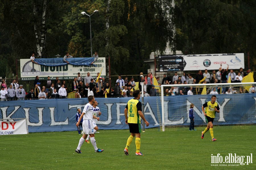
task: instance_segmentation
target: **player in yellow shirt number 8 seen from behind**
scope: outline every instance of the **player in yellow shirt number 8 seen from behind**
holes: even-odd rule
[[[141,109],[141,102],[139,99],[141,98],[140,91],[135,90],[133,91],[133,99],[129,100],[126,107],[125,107],[125,123],[129,125],[130,133],[124,152],[125,155],[128,155],[128,148],[133,141],[134,136],[135,138],[135,145],[136,145],[136,152],[135,155],[143,155],[140,152],[141,147],[141,118],[144,120],[146,126],[149,125],[148,121],[146,121],[142,109]],[[129,113],[129,117],[127,116]]]

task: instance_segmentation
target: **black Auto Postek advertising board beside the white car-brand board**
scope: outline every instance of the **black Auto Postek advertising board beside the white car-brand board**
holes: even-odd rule
[[[159,56],[159,71],[183,71],[183,56]]]

